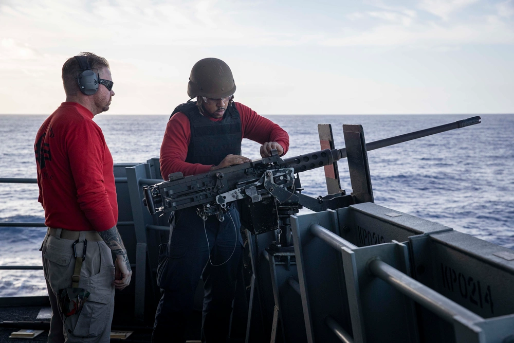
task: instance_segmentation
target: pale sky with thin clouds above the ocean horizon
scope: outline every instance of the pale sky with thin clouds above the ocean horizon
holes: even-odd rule
[[[171,113],[206,57],[264,115],[514,113],[514,0],[0,0],[0,114],[52,113],[81,51],[108,114]]]

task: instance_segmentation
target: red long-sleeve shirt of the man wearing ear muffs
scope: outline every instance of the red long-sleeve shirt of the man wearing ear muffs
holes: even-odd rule
[[[41,125],[34,150],[46,226],[104,231],[116,225],[113,157],[93,113],[63,102]]]

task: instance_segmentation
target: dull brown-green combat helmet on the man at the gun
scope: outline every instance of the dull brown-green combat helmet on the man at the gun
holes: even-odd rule
[[[191,69],[188,83],[190,98],[221,99],[235,93],[235,82],[227,63],[217,58],[199,60]]]

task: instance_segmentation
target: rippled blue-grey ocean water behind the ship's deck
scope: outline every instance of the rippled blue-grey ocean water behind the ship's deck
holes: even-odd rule
[[[33,143],[47,116],[0,115],[0,177],[35,178]],[[266,116],[290,136],[286,157],[320,150],[317,124],[332,124],[336,148],[342,124],[361,124],[366,141],[434,127],[472,115]],[[159,155],[168,115],[98,115],[115,163]],[[482,123],[368,153],[375,203],[438,222],[514,249],[514,115],[483,115]],[[259,158],[244,140],[243,155]],[[341,186],[351,191],[346,160]],[[323,169],[300,174],[304,193],[325,195]],[[0,222],[44,222],[35,184],[0,184]],[[45,228],[0,227],[0,265],[41,265]],[[45,295],[42,270],[0,270],[0,296]]]

